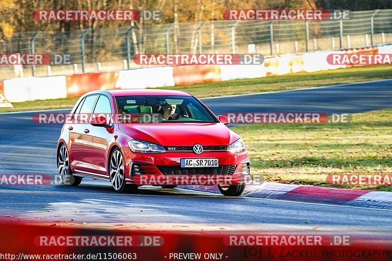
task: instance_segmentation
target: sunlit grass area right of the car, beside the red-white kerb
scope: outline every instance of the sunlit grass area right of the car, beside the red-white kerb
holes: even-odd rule
[[[392,174],[391,117],[392,109],[353,114],[345,124],[249,124],[232,130],[248,146],[252,174],[270,182],[329,186],[329,174]]]

